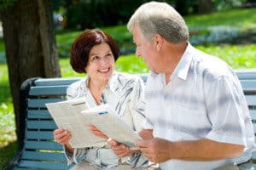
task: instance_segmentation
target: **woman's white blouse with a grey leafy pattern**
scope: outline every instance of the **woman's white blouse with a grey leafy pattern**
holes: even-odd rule
[[[90,94],[88,77],[74,82],[67,88],[67,99],[84,98],[90,107],[96,106],[96,101]],[[140,77],[125,73],[114,72],[109,79],[106,88],[102,92],[102,104],[109,104],[122,120],[135,131],[140,131],[144,121],[144,83]],[[112,168],[119,164],[116,156],[108,145],[102,147],[75,149],[73,154],[68,153],[68,164],[81,160],[88,161],[90,165],[100,169]],[[122,159],[131,167],[145,167],[148,164],[146,158],[141,154],[133,154]]]

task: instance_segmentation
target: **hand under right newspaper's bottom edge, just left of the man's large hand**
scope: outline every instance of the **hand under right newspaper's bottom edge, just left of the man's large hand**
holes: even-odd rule
[[[108,139],[108,144],[113,149],[113,152],[119,157],[131,156],[131,154],[139,152],[139,150],[131,150],[127,145],[119,144],[113,139]]]

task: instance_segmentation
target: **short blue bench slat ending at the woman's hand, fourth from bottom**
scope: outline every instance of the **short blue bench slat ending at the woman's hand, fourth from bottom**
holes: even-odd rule
[[[54,139],[51,131],[26,131],[26,139]]]

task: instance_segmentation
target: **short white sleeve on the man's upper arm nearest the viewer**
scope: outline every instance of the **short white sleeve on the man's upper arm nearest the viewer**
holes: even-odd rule
[[[207,139],[246,145],[244,105],[241,85],[235,78],[218,77],[205,88],[207,116],[212,124]]]

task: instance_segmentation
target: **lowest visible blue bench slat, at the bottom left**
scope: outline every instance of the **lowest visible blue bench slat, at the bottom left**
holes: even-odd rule
[[[20,167],[27,167],[30,169],[68,169],[65,163],[55,163],[47,161],[20,161]]]

